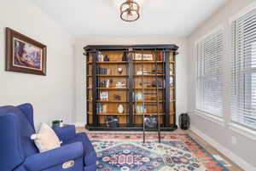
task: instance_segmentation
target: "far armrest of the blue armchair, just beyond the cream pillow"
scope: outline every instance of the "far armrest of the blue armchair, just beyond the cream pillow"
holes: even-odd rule
[[[74,125],[69,125],[67,127],[55,128],[55,134],[60,140],[70,140],[76,136],[76,128]]]

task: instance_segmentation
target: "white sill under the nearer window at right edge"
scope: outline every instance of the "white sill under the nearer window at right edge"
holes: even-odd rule
[[[253,131],[253,129],[243,127],[236,123],[229,123],[229,128],[232,131],[247,137],[248,139],[256,141],[256,131]]]

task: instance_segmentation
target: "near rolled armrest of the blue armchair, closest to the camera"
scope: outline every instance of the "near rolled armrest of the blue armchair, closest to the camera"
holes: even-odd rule
[[[40,171],[83,156],[83,145],[77,142],[27,157],[24,165],[30,171]]]

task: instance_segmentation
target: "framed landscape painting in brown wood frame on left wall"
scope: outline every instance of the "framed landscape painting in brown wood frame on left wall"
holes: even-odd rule
[[[46,46],[6,28],[6,71],[46,76]]]

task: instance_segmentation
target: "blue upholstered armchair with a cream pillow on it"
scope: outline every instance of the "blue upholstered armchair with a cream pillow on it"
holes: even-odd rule
[[[76,134],[74,126],[55,133],[61,147],[39,153],[30,139],[35,134],[32,105],[0,107],[0,170],[96,171],[96,152],[86,134]]]

